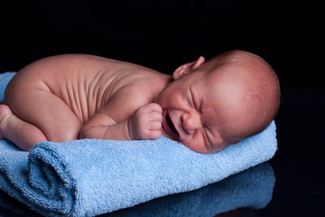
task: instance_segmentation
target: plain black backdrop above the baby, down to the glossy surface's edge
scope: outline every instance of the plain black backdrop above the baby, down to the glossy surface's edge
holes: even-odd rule
[[[0,71],[81,52],[172,73],[199,55],[243,49],[264,57],[283,87],[321,84],[323,23],[312,1],[13,0],[0,8]]]

